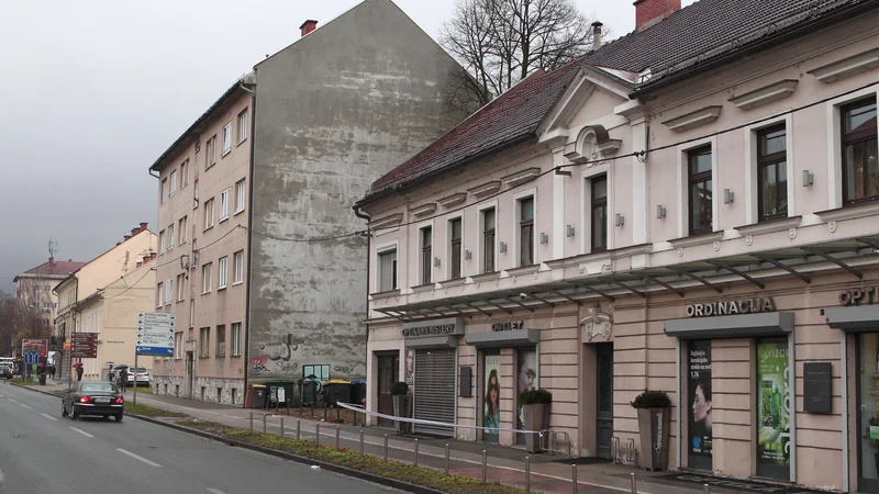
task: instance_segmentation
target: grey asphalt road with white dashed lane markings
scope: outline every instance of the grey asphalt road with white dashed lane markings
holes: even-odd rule
[[[0,383],[0,493],[399,492],[126,417],[62,417],[60,400]]]

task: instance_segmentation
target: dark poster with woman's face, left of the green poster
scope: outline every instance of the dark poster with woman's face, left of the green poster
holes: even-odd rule
[[[711,341],[691,341],[687,359],[690,468],[711,470]]]

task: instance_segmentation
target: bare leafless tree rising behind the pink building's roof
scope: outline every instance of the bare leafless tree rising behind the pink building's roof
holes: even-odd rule
[[[453,104],[486,104],[538,68],[555,69],[592,47],[591,20],[571,0],[457,0],[441,43],[467,69]]]

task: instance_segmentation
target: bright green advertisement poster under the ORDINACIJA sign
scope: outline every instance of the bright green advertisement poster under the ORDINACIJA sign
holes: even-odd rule
[[[785,479],[790,472],[790,409],[788,343],[757,345],[758,472]]]

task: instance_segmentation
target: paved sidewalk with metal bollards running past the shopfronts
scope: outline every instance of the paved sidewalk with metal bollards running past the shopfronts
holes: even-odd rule
[[[67,388],[67,382],[48,382],[45,386],[29,386],[43,392],[60,392]],[[125,392],[125,400],[132,401],[131,390]],[[288,437],[297,436],[297,418],[275,415],[267,409],[245,409],[235,406],[220,405],[216,403],[185,400],[173,396],[159,396],[148,393],[137,393],[137,403],[163,408],[169,412],[187,414],[200,420],[214,422],[231,427],[247,429],[251,427],[253,414],[254,430],[265,430],[269,434],[280,435],[281,420],[283,433]],[[304,439],[314,439],[315,429],[320,426],[321,442],[334,445],[336,428],[338,428],[340,445],[359,450],[359,434],[364,431],[364,449],[368,454],[382,457],[385,454],[385,436],[388,440],[388,457],[394,460],[414,462],[414,445],[419,442],[419,464],[436,469],[445,468],[445,445],[449,447],[449,470],[465,476],[481,479],[482,450],[487,454],[487,476],[490,481],[525,487],[525,457],[524,449],[501,447],[498,445],[460,441],[454,439],[436,439],[426,437],[397,435],[392,429],[380,427],[336,426],[322,420],[300,419],[300,435]],[[566,460],[561,454],[532,454],[531,456],[531,490],[546,493],[571,493],[572,467],[560,462]],[[635,473],[637,491],[639,494],[701,494],[702,485],[692,482],[678,482],[657,476],[668,476],[669,472],[646,472],[641,469],[613,463],[579,464],[576,467],[580,492],[615,493],[631,492],[631,474]],[[712,486],[713,492],[735,493],[744,492],[724,487]],[[753,491],[752,491],[753,492]]]

